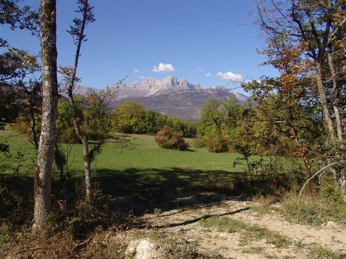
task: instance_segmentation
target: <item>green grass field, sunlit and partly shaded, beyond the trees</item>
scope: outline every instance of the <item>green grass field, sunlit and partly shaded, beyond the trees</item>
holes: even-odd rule
[[[4,137],[16,135],[9,127],[0,134]],[[147,188],[163,186],[183,191],[227,194],[242,191],[242,169],[239,165],[233,167],[233,162],[239,155],[209,153],[205,149],[164,150],[154,142],[154,136],[134,135],[134,137],[137,138],[133,140],[133,143],[137,144],[137,150],[121,150],[113,144],[107,144],[97,156],[93,179],[99,181],[107,193],[130,195],[140,193]],[[28,156],[35,157],[33,145],[28,143],[25,136],[11,137],[8,144],[11,152],[24,150],[27,147]],[[66,148],[67,145],[63,147]],[[30,163],[30,160],[24,163]],[[93,163],[92,169],[94,166]],[[21,171],[26,170],[23,168]],[[81,145],[72,147],[69,155],[69,173],[70,184],[83,177]],[[32,178],[33,170],[29,170],[26,176]],[[53,177],[57,180],[57,173],[54,173]]]

